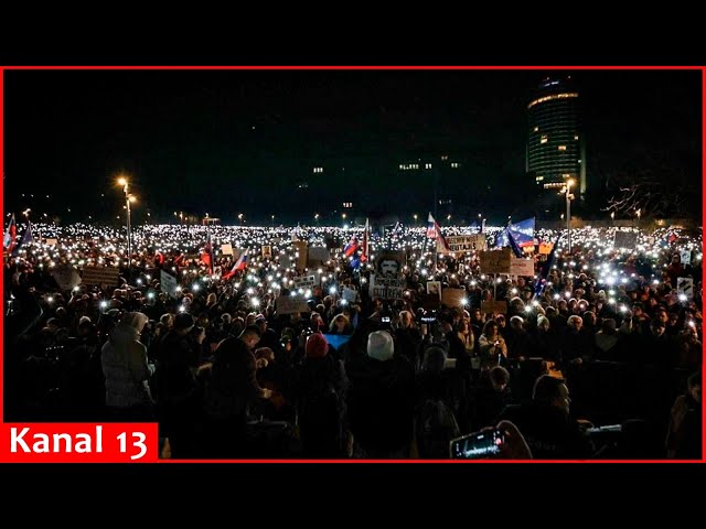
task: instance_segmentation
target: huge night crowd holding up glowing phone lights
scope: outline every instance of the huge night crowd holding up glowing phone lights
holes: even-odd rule
[[[156,421],[172,458],[449,458],[496,425],[523,457],[702,457],[700,229],[550,253],[538,230],[524,277],[414,227],[153,225],[131,255],[106,227],[32,229],[6,255],[7,421]],[[385,251],[391,299],[368,288]]]

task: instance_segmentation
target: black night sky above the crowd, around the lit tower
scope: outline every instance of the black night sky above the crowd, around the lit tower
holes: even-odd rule
[[[660,163],[693,177],[700,196],[698,71],[4,75],[6,210],[115,218],[114,181],[126,172],[138,218],[148,209],[153,218],[173,210],[224,220],[239,212],[253,222],[325,217],[343,199],[363,215],[424,214],[428,176],[404,182],[396,169],[442,152],[464,162],[440,190],[457,212],[522,210],[526,102],[548,75],[570,75],[578,87],[591,184]],[[312,174],[315,165],[325,174]],[[308,194],[297,191],[301,181]]]

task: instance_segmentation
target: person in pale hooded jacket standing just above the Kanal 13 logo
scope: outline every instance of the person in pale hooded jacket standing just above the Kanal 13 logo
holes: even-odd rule
[[[150,377],[154,367],[148,363],[147,347],[140,342],[149,317],[127,312],[110,331],[100,350],[106,384],[106,406],[121,420],[149,420],[152,393]]]

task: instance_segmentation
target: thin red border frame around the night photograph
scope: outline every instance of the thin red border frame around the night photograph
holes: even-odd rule
[[[0,65],[0,172],[2,173],[4,184],[4,72],[6,71],[33,71],[33,69],[72,69],[72,71],[85,71],[85,69],[249,69],[249,71],[270,71],[270,69],[308,69],[308,71],[339,71],[339,69],[353,69],[353,71],[450,71],[450,69],[485,69],[485,71],[507,71],[507,69],[523,69],[523,71],[650,71],[650,69],[678,69],[678,71],[700,71],[702,72],[702,182],[704,182],[704,175],[706,175],[706,66],[1,66]],[[0,202],[2,202],[2,218],[4,219],[4,185],[0,186]],[[702,192],[702,226],[706,218],[704,212],[706,210],[706,195]],[[4,223],[4,220],[3,220]],[[4,230],[4,224],[3,228]],[[703,249],[702,249],[703,251]],[[703,278],[702,278],[703,281]],[[4,285],[4,267],[0,270],[0,293]],[[4,309],[4,306],[3,306]],[[3,317],[0,319],[0,338],[4,338],[4,311]],[[0,359],[4,354],[4,342],[0,349]],[[4,361],[0,361],[0,380],[4,380]],[[702,366],[702,376],[706,371]],[[4,423],[4,407],[3,407],[4,391],[0,391],[0,425],[6,427]],[[703,424],[703,422],[702,422]],[[67,424],[68,425],[68,424]],[[473,461],[461,462],[450,460],[158,460],[159,463],[394,463],[394,464],[516,464],[516,463],[536,463],[536,464],[552,464],[552,463],[590,463],[590,464],[612,464],[612,463],[652,463],[652,464],[692,464],[706,462],[706,428],[702,427],[702,460],[689,461],[674,461],[674,460],[530,460],[530,461]],[[4,436],[6,432],[2,429]],[[11,462],[9,454],[4,453],[4,449],[0,447],[0,462]],[[101,458],[105,462],[105,458]],[[53,458],[54,462],[61,462],[61,458]],[[97,462],[97,460],[94,460]],[[38,457],[38,462],[40,458]],[[92,461],[87,461],[89,463]],[[117,462],[117,460],[116,460]],[[150,461],[154,462],[154,461]]]

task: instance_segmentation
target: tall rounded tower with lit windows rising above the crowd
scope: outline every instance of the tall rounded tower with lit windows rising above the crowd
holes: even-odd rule
[[[546,78],[527,102],[526,171],[537,191],[561,188],[574,179],[586,195],[586,143],[580,99],[570,77]]]

